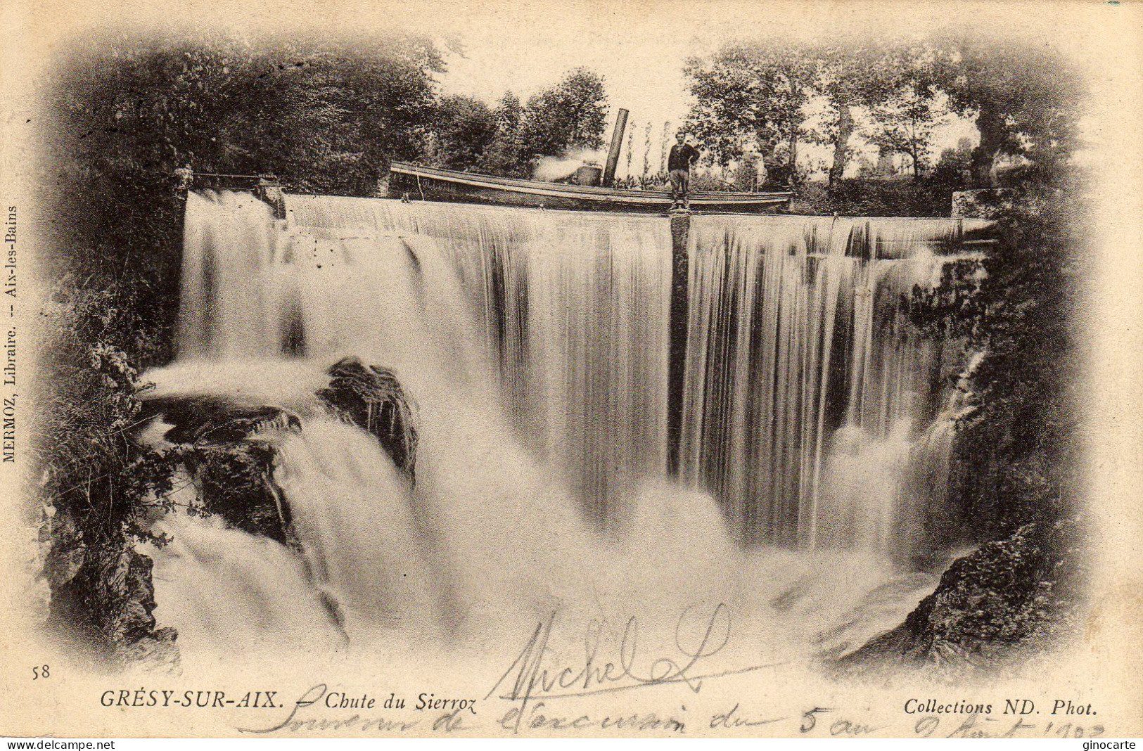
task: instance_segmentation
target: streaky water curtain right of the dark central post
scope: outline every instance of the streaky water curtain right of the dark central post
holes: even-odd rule
[[[942,343],[908,320],[948,219],[692,221],[680,474],[749,543],[889,552],[942,397]],[[922,446],[924,448],[924,446]],[[934,445],[948,463],[948,445]],[[921,452],[924,453],[924,452]],[[942,498],[943,500],[943,498]]]

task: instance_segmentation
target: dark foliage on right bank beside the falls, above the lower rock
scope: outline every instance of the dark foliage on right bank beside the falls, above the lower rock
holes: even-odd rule
[[[1080,183],[1038,173],[1013,190],[983,279],[949,273],[912,299],[921,326],[985,352],[972,374],[976,409],[959,425],[952,482],[968,533],[985,540],[1072,513],[1079,466],[1070,321],[1084,247]]]

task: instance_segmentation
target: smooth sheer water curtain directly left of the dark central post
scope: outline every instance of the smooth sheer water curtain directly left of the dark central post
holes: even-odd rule
[[[435,240],[498,362],[513,425],[597,522],[665,474],[666,222],[296,195],[287,215],[302,233]]]

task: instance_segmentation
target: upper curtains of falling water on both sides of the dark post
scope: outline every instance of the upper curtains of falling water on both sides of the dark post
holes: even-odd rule
[[[600,528],[666,474],[756,544],[889,551],[933,498],[917,462],[944,344],[903,301],[932,286],[949,219],[696,216],[682,404],[669,405],[671,237],[658,217],[191,194],[179,352],[352,353],[414,393],[448,381],[502,410]],[[431,374],[447,373],[447,378]],[[930,447],[942,456],[918,457]]]

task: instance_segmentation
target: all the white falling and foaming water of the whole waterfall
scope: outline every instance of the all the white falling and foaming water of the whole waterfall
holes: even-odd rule
[[[735,283],[759,287],[740,305],[719,289],[722,262],[704,256],[717,255],[720,232],[732,237],[719,229],[728,221],[696,218],[688,490],[664,477],[664,219],[296,197],[288,206],[283,225],[240,194],[187,200],[181,353],[149,377],[167,396],[288,407],[302,429],[259,437],[279,448],[274,479],[297,551],[217,520],[160,522],[175,542],[153,552],[157,616],[178,628],[184,649],[301,648],[313,628],[319,649],[513,641],[554,612],[581,625],[637,615],[669,644],[688,608],[709,615],[721,602],[741,648],[794,656],[858,646],[932,589],[932,577],[894,572],[885,548],[900,494],[879,494],[909,474],[901,450],[917,445],[912,421],[924,418],[913,406],[934,397],[905,394],[933,355],[911,341],[886,344],[878,305],[853,294],[854,280],[898,289],[897,277],[925,263],[932,273],[932,257],[878,266],[834,253],[812,262],[808,245],[765,253],[797,250],[809,225],[784,217],[784,235],[760,240],[777,224],[743,219],[759,229],[733,237],[756,239],[726,263]],[[766,307],[777,301],[798,313]],[[765,325],[741,312],[730,321],[733,306]],[[823,344],[846,326],[860,334],[844,339],[852,344]],[[727,357],[720,339],[756,353]],[[832,373],[829,351],[845,347],[865,354],[839,357],[845,408],[832,407],[842,430],[831,439],[822,373]],[[393,369],[416,400],[415,487],[313,398],[343,354]],[[782,385],[767,396],[752,386],[759,376]],[[760,441],[753,418],[777,438]],[[818,490],[807,495],[814,476]],[[764,481],[781,492],[761,495]],[[730,487],[753,495],[728,501]],[[762,514],[776,533],[762,532]],[[830,514],[837,521],[823,521]],[[743,538],[822,550],[748,550]]]

